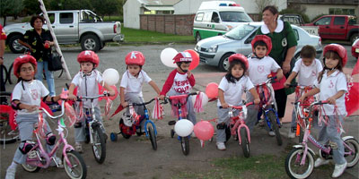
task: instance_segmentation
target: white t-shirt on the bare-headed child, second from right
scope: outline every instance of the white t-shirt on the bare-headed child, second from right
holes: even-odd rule
[[[306,66],[302,63],[301,58],[294,64],[293,68],[293,72],[298,73],[298,84],[301,86],[312,86],[322,70],[323,66],[318,59],[314,59],[311,65]]]

